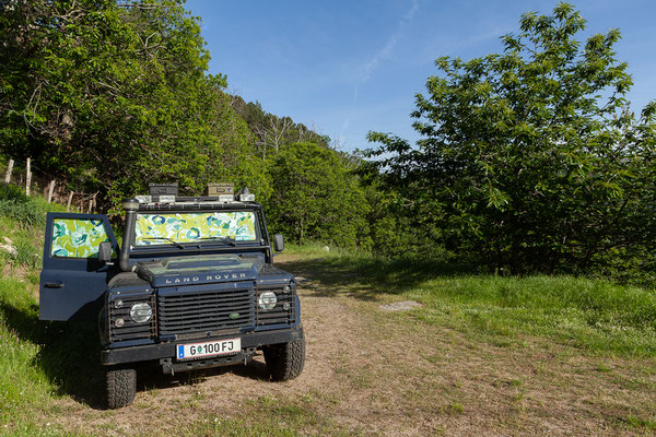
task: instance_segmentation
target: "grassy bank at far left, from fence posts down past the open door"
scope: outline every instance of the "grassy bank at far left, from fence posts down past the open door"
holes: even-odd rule
[[[27,198],[15,187],[0,185],[0,243],[9,238],[16,249],[15,255],[0,251],[0,435],[67,435],[39,418],[48,414],[48,406],[62,392],[85,390],[84,383],[77,391],[68,390],[73,386],[71,378],[90,377],[90,370],[75,368],[80,365],[71,361],[89,361],[80,352],[80,345],[89,343],[84,340],[89,328],[38,320],[36,290],[45,214],[63,210],[42,198]],[[95,330],[92,334],[95,340]]]

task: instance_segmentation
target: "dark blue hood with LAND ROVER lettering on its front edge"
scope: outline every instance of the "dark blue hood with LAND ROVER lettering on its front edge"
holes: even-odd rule
[[[173,257],[137,264],[137,274],[153,287],[254,281],[265,261],[261,257],[199,255]]]

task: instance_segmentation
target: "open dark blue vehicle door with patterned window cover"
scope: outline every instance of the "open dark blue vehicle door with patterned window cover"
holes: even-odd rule
[[[48,213],[39,284],[42,320],[95,320],[114,267],[98,260],[98,246],[118,244],[105,214]]]

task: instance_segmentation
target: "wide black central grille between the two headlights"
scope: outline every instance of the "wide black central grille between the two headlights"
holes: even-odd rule
[[[160,335],[212,332],[255,324],[253,288],[157,296]],[[231,319],[231,315],[238,317]]]

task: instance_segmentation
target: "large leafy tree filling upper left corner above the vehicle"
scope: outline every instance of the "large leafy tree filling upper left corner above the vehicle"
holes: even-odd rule
[[[181,0],[0,4],[0,151],[118,200],[149,181],[269,192]],[[4,42],[7,44],[4,44]]]

